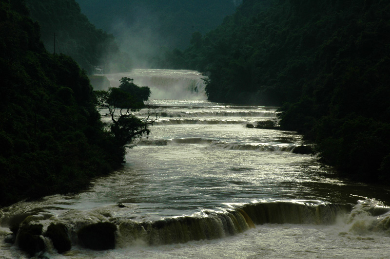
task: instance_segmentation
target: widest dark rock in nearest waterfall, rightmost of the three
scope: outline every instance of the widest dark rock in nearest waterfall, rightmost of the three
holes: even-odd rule
[[[117,226],[110,222],[99,222],[78,230],[81,244],[93,250],[115,249],[115,232]]]

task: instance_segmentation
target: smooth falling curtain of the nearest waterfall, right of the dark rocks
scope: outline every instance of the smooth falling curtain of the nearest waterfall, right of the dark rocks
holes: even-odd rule
[[[255,224],[295,223],[331,224],[338,216],[351,211],[351,205],[272,202],[246,204],[223,212],[203,211],[202,215],[179,216],[156,222],[119,223],[122,245],[139,240],[150,245],[212,240],[243,233]]]

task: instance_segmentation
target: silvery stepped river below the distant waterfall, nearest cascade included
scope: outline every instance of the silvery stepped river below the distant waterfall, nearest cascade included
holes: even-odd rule
[[[38,225],[30,233],[38,242],[45,237],[41,256],[55,259],[191,259],[195,250],[200,258],[218,258],[221,247],[243,259],[387,257],[387,186],[340,179],[315,157],[294,153],[303,143],[294,131],[246,128],[275,119],[273,107],[211,103],[193,95],[150,100],[164,109],[152,134],[129,150],[123,168],[96,178],[87,191],[0,209],[0,236],[20,235],[8,235],[9,222]],[[144,109],[137,115],[146,114]],[[54,226],[70,240],[63,254]],[[4,255],[22,254],[2,240]],[[259,243],[243,253],[248,240]]]

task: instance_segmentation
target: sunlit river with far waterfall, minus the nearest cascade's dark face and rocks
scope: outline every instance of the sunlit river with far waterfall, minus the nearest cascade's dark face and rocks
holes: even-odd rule
[[[197,72],[137,70],[132,73],[108,77],[115,80],[113,84],[121,76],[134,77],[140,85],[148,80],[163,81],[161,89],[168,87],[169,78],[173,78],[174,82],[181,82],[176,93],[193,98],[152,99],[149,105],[161,113],[152,133],[128,150],[121,170],[97,179],[88,191],[17,203],[3,208],[1,218],[37,211],[39,215],[49,215],[41,221],[45,225],[66,222],[77,231],[78,225],[88,221],[141,224],[161,219],[180,220],[184,215],[215,219],[215,215],[225,215],[248,204],[273,206],[276,202],[280,206],[275,212],[270,210],[268,223],[248,227],[242,233],[222,233],[217,238],[209,234],[208,238],[188,241],[161,236],[160,232],[160,242],[152,243],[141,234],[131,237],[121,232],[114,250],[91,251],[73,240],[70,252],[59,255],[54,249],[48,249],[45,256],[69,259],[390,257],[389,189],[339,179],[329,168],[317,163],[315,157],[294,154],[293,148],[303,144],[302,136],[295,132],[246,128],[247,123],[275,119],[276,108],[205,101],[199,81],[202,76]],[[180,73],[184,79],[180,79]],[[188,79],[189,74],[195,77],[193,81]],[[154,88],[158,88],[157,83],[152,91]],[[147,110],[137,113],[140,117],[146,114]],[[297,210],[291,204],[303,204],[304,209]],[[320,204],[351,204],[352,211],[336,213],[330,216],[334,218],[330,222],[312,220],[309,216],[301,219],[305,218],[303,214],[298,223],[290,222],[294,213],[305,214],[306,206]],[[278,217],[287,220],[274,224],[270,223],[272,217],[274,222],[279,221]],[[205,229],[219,231],[217,226],[213,229],[213,224]],[[174,235],[170,231],[172,228],[167,228],[164,233],[168,234],[164,235]],[[0,236],[8,233],[6,226],[0,228]],[[0,258],[24,257],[15,245],[2,240],[0,245]]]

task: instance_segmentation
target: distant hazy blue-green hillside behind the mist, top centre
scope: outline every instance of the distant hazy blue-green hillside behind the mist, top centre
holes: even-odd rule
[[[77,0],[98,28],[113,33],[135,66],[156,65],[166,49],[184,49],[191,35],[215,29],[240,0]]]

